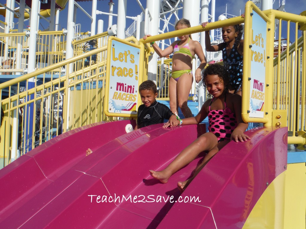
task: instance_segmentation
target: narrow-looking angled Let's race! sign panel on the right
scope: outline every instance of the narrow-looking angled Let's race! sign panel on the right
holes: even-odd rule
[[[267,25],[255,11],[252,16],[251,32],[251,81],[249,117],[263,118],[266,75]]]

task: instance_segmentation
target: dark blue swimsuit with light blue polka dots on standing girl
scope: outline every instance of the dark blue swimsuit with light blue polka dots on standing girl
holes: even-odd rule
[[[240,89],[242,82],[242,60],[243,56],[238,53],[236,45],[230,51],[230,55],[226,53],[226,45],[222,49],[223,67],[230,75],[230,85],[235,89],[235,93]]]

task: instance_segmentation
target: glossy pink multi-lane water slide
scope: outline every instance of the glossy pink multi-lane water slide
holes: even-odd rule
[[[287,128],[255,128],[230,142],[181,194],[196,158],[167,184],[149,175],[204,125],[131,133],[135,121],[100,122],[47,141],[0,170],[0,228],[242,228],[267,186],[285,171]],[[94,152],[85,156],[90,147]]]

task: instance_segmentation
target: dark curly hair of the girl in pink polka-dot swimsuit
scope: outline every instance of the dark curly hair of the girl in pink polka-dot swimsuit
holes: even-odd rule
[[[202,82],[204,89],[206,89],[205,80],[207,78],[207,75],[218,75],[221,79],[220,81],[223,82],[224,87],[227,90],[227,85],[230,84],[230,76],[222,65],[210,64],[205,68],[205,70],[202,72]]]

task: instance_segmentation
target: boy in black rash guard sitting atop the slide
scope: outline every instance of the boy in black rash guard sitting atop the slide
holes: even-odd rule
[[[166,105],[156,101],[157,88],[153,81],[147,80],[140,84],[139,94],[144,104],[138,107],[135,130],[144,126],[163,123],[164,119],[169,119],[171,115],[175,115]]]

